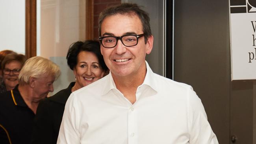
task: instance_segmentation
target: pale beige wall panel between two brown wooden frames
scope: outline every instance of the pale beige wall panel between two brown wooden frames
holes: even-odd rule
[[[37,0],[37,55],[52,60],[61,69],[50,96],[74,81],[66,55],[70,44],[84,40],[85,0]]]

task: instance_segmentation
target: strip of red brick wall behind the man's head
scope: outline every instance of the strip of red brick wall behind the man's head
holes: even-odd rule
[[[100,12],[103,9],[106,9],[109,6],[115,6],[121,4],[121,0],[94,0],[94,7],[93,7],[93,13],[94,13],[94,28],[93,28],[93,36],[94,39],[98,39],[98,17],[100,15]]]

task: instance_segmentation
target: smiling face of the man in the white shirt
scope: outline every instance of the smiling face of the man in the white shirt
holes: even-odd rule
[[[122,36],[126,34],[140,35],[143,33],[141,20],[137,15],[112,15],[106,17],[102,22],[101,36]],[[148,37],[147,44],[145,38],[141,37],[136,46],[124,46],[120,40],[113,48],[100,46],[104,61],[108,66],[113,78],[126,76],[145,76],[146,54],[152,50],[153,37]]]

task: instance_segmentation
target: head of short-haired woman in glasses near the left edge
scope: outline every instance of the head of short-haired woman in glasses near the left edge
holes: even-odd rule
[[[0,93],[12,90],[18,84],[18,76],[22,66],[26,61],[25,55],[12,53],[7,54],[1,64],[2,68],[2,85]]]

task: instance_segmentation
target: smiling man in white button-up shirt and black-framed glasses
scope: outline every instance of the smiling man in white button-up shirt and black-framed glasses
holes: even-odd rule
[[[154,74],[145,61],[153,45],[145,11],[105,9],[99,34],[110,73],[70,95],[58,144],[218,144],[192,87]]]

